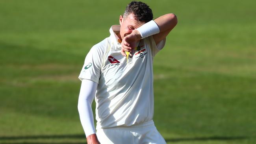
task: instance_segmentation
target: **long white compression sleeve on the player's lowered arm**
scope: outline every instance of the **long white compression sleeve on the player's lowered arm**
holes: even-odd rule
[[[81,84],[78,98],[78,111],[80,115],[80,121],[86,136],[95,133],[91,104],[95,97],[97,85],[97,83],[88,79],[83,79]]]

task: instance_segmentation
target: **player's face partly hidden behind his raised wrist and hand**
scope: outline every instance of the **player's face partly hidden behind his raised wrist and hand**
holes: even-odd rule
[[[127,17],[123,18],[122,15],[120,16],[120,35],[121,39],[123,39],[126,35],[129,35],[135,29],[139,28],[145,22],[140,22],[139,20],[135,20],[133,14],[128,15]]]

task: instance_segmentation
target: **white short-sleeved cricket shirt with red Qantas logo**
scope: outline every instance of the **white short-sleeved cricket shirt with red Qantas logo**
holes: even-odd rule
[[[153,57],[165,40],[156,46],[152,36],[142,39],[127,61],[116,35],[120,26],[109,31],[108,38],[91,48],[79,75],[98,83],[96,129],[148,122],[154,113]]]

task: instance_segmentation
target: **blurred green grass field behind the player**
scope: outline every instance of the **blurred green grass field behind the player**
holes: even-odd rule
[[[0,0],[0,144],[85,144],[77,78],[128,0]],[[168,144],[256,143],[256,2],[145,0],[178,25],[154,59]]]

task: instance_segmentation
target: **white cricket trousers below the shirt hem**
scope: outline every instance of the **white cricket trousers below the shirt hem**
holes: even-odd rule
[[[100,144],[166,144],[153,120],[130,127],[97,129]]]

